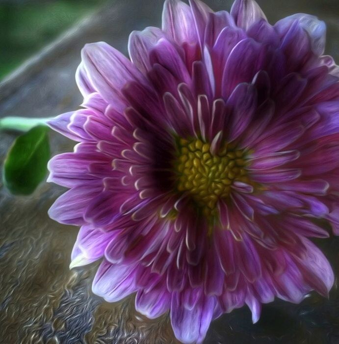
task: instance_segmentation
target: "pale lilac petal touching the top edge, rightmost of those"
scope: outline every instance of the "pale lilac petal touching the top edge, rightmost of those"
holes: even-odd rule
[[[245,30],[261,19],[267,21],[258,3],[254,0],[235,0],[231,8],[231,15],[236,25]]]

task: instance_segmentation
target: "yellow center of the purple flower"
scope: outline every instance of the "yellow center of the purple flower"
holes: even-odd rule
[[[216,204],[227,198],[235,181],[249,182],[244,150],[224,144],[217,153],[199,139],[181,139],[175,162],[177,189],[187,192],[206,216],[216,215]]]

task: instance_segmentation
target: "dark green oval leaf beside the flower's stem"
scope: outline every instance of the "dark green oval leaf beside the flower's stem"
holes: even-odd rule
[[[30,129],[9,149],[3,166],[3,183],[14,195],[30,195],[47,173],[50,159],[48,127]]]

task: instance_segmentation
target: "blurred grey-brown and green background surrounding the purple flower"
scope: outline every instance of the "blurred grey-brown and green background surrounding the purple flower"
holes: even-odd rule
[[[206,2],[214,10],[229,10],[232,3]],[[324,20],[327,53],[339,62],[338,0],[258,2],[271,23],[296,12]],[[160,24],[162,3],[0,0],[0,117],[47,117],[76,109],[81,47],[104,40],[126,54],[131,30]],[[0,133],[0,165],[15,137]],[[74,143],[50,137],[53,155],[72,150]],[[43,183],[30,197],[14,197],[0,184],[0,344],[176,343],[167,316],[148,320],[135,313],[133,298],[108,304],[93,295],[96,266],[68,269],[78,229],[47,215],[62,192]],[[337,276],[328,300],[314,293],[300,305],[275,301],[263,306],[256,325],[247,308],[236,310],[212,323],[204,343],[339,344],[339,238],[317,244]]]

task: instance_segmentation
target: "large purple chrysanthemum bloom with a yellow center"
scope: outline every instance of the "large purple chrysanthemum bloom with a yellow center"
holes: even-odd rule
[[[81,226],[72,267],[102,259],[96,294],[136,292],[201,343],[225,312],[256,322],[275,296],[332,287],[309,237],[339,234],[339,68],[310,15],[271,26],[253,0],[166,0],[162,21],[131,33],[130,60],[83,48],[83,109],[50,122],[79,142],[49,164],[70,188],[50,216]]]

